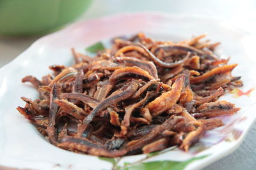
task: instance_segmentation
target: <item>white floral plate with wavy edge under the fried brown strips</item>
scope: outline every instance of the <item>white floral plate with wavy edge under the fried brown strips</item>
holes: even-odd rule
[[[232,56],[230,64],[239,66],[232,74],[242,76],[244,86],[226,94],[221,100],[235,103],[241,110],[223,117],[223,127],[209,131],[188,153],[172,147],[149,155],[116,159],[72,153],[52,146],[35,127],[15,110],[24,103],[20,96],[35,99],[38,94],[21,78],[33,74],[37,78],[49,73],[53,64],[72,64],[70,48],[83,52],[86,46],[115,36],[143,31],[156,39],[180,41],[207,32],[209,39],[220,41],[219,53]],[[243,141],[256,116],[253,88],[255,59],[253,38],[225,22],[209,18],[173,16],[164,13],[124,13],[90,21],[77,22],[66,29],[36,41],[17,59],[0,70],[0,166],[29,169],[200,169],[234,151]]]

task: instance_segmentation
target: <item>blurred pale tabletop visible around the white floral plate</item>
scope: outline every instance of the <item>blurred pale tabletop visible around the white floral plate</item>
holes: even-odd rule
[[[171,14],[203,15],[228,20],[242,20],[243,28],[253,31],[256,25],[256,1],[253,0],[215,0],[215,1],[172,1],[172,0],[95,0],[91,8],[78,20],[111,15],[124,11],[164,11]],[[241,23],[241,22],[240,22]],[[256,29],[255,29],[256,30]],[[0,37],[0,67],[15,59],[21,52],[26,50],[40,36],[10,38]],[[204,170],[214,169],[254,169],[256,166],[256,124],[248,132],[243,143],[237,150],[227,157],[214,162]]]

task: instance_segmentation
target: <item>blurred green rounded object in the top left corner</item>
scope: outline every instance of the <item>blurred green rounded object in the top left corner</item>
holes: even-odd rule
[[[92,0],[0,0],[0,34],[29,36],[58,29],[79,17]]]

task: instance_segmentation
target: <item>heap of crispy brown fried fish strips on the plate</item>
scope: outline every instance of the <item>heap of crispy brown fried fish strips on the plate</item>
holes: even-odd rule
[[[150,153],[178,145],[186,152],[220,116],[239,108],[218,101],[243,86],[214,49],[220,43],[156,41],[143,33],[115,38],[113,47],[88,57],[72,49],[76,64],[50,66],[38,80],[26,76],[40,99],[17,110],[52,145],[104,157]]]

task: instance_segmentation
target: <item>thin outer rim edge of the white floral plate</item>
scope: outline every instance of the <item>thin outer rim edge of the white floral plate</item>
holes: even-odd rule
[[[31,46],[29,46],[29,48],[27,48],[26,50],[24,50],[24,52],[20,53],[20,55],[18,55],[15,59],[13,59],[12,61],[10,61],[8,64],[5,64],[3,67],[0,68],[0,82],[3,81],[4,78],[4,74],[12,71],[12,67],[15,66],[15,64],[17,64],[20,60],[22,60],[23,58],[26,58],[26,53],[30,52],[31,50],[33,50],[33,48],[36,48],[36,46],[40,46],[40,43],[42,43],[43,41],[47,40],[48,38],[51,38],[52,36],[58,36],[58,34],[61,34],[63,32],[67,32],[70,29],[73,29],[74,27],[79,26],[79,24],[88,24],[90,22],[95,22],[95,20],[97,20],[98,22],[102,21],[102,20],[108,20],[108,19],[113,19],[115,17],[125,17],[127,15],[157,15],[157,16],[161,16],[161,17],[171,17],[171,18],[194,18],[194,19],[207,19],[207,20],[213,20],[214,22],[220,22],[221,20],[218,20],[218,18],[207,18],[207,17],[198,17],[196,15],[186,15],[186,14],[182,14],[182,15],[172,15],[170,13],[164,13],[164,12],[148,12],[148,11],[143,11],[143,12],[136,12],[136,13],[130,13],[130,12],[125,12],[125,13],[118,13],[118,14],[113,14],[113,15],[108,15],[108,16],[104,16],[104,17],[99,17],[99,18],[92,18],[90,20],[81,20],[78,22],[75,22],[74,24],[68,25],[68,27],[61,29],[60,31],[56,31],[56,32],[52,32],[51,34],[48,34],[46,36],[43,36],[42,38],[37,39],[34,43],[32,43]],[[228,24],[230,25],[230,24]],[[237,31],[239,32],[243,32],[243,34],[247,34],[250,36],[253,36],[253,34],[251,34],[250,32],[244,31],[243,29],[239,29],[239,27],[235,27],[234,29],[237,29]],[[1,88],[2,83],[0,84],[0,88]],[[0,99],[1,99],[1,90],[0,90]],[[254,104],[253,106],[250,107],[249,110],[255,110],[256,105]],[[248,110],[248,111],[249,111]],[[1,116],[1,113],[0,113]],[[244,138],[246,137],[246,135],[248,134],[250,128],[253,125],[253,122],[255,122],[256,118],[254,118],[252,121],[249,122],[249,126],[248,129],[246,131],[243,132],[243,134],[241,135],[241,137],[239,139],[237,139],[236,142],[233,143],[233,146],[229,149],[229,150],[225,150],[222,153],[218,153],[216,155],[209,155],[209,157],[204,159],[204,164],[199,164],[199,166],[195,167],[195,169],[197,168],[203,168],[208,166],[209,164],[211,164],[212,162],[215,162],[216,160],[219,160],[227,155],[229,155],[230,153],[234,152],[234,150],[236,150],[237,147],[239,147],[241,145],[241,143],[244,141]]]

